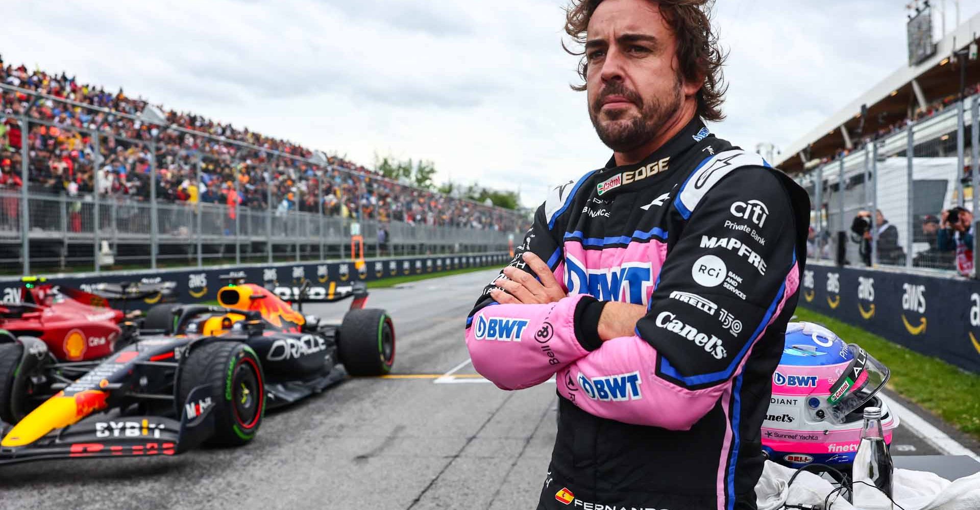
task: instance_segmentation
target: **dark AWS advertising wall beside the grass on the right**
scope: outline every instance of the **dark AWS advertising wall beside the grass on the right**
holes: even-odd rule
[[[808,263],[800,305],[980,373],[980,282]]]

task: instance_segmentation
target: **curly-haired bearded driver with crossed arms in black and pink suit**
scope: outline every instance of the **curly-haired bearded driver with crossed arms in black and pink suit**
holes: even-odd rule
[[[806,259],[809,200],[711,134],[707,0],[575,0],[566,31],[605,167],[550,190],[466,319],[505,390],[556,377],[539,509],[755,509],[760,426]]]

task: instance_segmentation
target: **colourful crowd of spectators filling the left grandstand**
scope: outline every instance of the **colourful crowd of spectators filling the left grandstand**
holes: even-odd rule
[[[342,158],[165,111],[64,72],[5,65],[0,57],[0,82],[22,89],[0,89],[0,190],[25,184],[26,143],[31,192],[149,201],[155,180],[160,202],[224,204],[232,215],[238,207],[279,214],[322,207],[324,214],[382,222],[507,231],[526,223],[515,211],[392,181]],[[23,117],[39,120],[29,121],[26,136]]]

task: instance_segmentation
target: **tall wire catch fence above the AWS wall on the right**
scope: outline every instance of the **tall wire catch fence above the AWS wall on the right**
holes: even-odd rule
[[[938,231],[944,210],[977,210],[978,109],[974,95],[799,175],[812,208],[809,258],[956,271]],[[864,223],[866,236],[852,231],[861,211],[874,219],[875,210],[884,222]]]

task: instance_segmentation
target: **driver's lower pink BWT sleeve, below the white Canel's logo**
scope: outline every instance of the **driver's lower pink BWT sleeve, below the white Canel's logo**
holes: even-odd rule
[[[640,337],[603,344],[558,373],[558,391],[584,411],[634,425],[686,431],[717,402],[731,381],[688,390],[658,377],[657,349]]]

